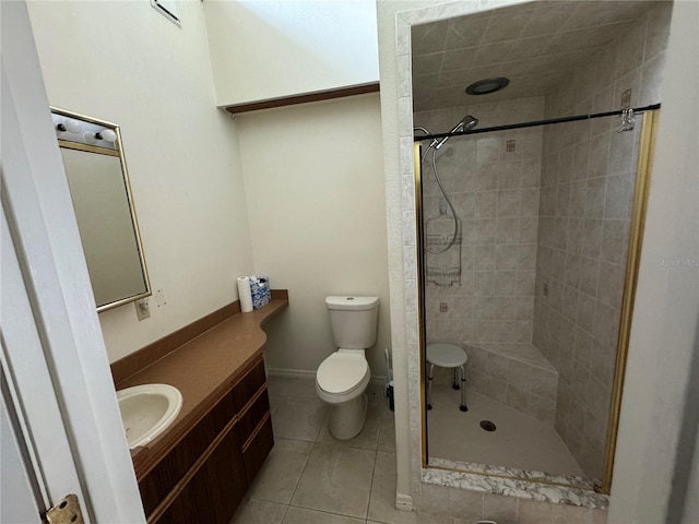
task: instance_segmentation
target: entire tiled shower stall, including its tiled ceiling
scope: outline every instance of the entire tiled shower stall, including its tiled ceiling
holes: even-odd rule
[[[600,5],[411,26],[423,466],[479,488],[611,487],[672,2]]]

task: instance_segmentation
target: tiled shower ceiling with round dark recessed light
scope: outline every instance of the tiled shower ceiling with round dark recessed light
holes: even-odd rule
[[[550,92],[657,2],[534,1],[412,27],[415,111]],[[505,90],[465,88],[506,76]]]

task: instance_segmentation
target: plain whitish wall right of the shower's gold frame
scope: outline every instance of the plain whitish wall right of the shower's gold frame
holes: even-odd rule
[[[699,4],[676,1],[663,73],[660,128],[643,237],[636,309],[619,422],[611,523],[677,522],[672,489],[692,445],[678,445],[696,426],[695,333],[699,318]],[[682,82],[668,80],[682,79]],[[683,263],[682,261],[686,261]],[[664,263],[665,262],[665,263]],[[679,265],[673,265],[679,263]],[[692,356],[694,354],[694,356]],[[687,397],[689,383],[694,395]],[[696,424],[696,418],[695,422]],[[694,462],[695,467],[697,462]],[[695,472],[695,476],[699,472]],[[695,484],[696,486],[696,484]],[[688,491],[697,499],[697,491]],[[695,502],[696,503],[696,502]],[[696,511],[696,505],[695,505]],[[686,521],[690,522],[690,521]],[[696,522],[696,521],[694,521]]]

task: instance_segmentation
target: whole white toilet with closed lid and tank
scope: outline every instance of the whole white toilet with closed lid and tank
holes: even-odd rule
[[[347,440],[362,431],[367,414],[365,349],[376,343],[379,297],[327,297],[325,307],[337,350],[318,367],[316,393],[330,405],[330,434]]]

